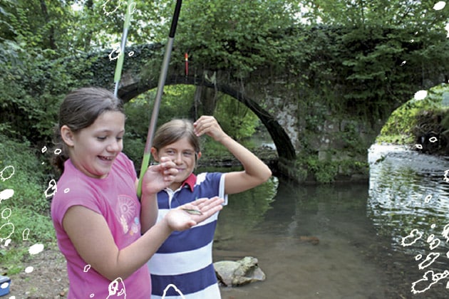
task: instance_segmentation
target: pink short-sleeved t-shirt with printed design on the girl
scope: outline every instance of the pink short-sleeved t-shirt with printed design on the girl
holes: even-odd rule
[[[70,159],[64,164],[64,172],[51,202],[51,218],[58,246],[67,260],[70,283],[68,299],[150,298],[151,280],[146,264],[125,280],[108,280],[87,266],[62,226],[68,208],[86,206],[103,215],[119,249],[130,245],[140,237],[140,203],[135,194],[136,179],[133,162],[123,153],[115,159],[108,177],[104,179],[86,176],[73,166]]]

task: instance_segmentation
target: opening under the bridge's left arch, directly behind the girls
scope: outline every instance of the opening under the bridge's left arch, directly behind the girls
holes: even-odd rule
[[[162,102],[160,105],[160,112],[158,117],[158,126],[163,122],[170,120],[172,117],[185,117],[193,119],[195,118],[195,113],[198,112],[201,112],[201,114],[197,115],[214,114],[214,112],[216,112],[215,109],[217,108],[222,110],[218,111],[219,114],[227,115],[227,118],[224,122],[228,127],[224,127],[225,132],[227,132],[229,135],[232,135],[234,139],[239,140],[240,136],[233,135],[233,132],[237,132],[238,134],[242,135],[242,132],[239,132],[240,128],[232,127],[232,123],[227,122],[227,120],[233,119],[234,125],[237,124],[236,126],[238,126],[239,122],[241,122],[241,130],[244,131],[245,126],[248,127],[248,124],[245,124],[244,122],[254,122],[255,117],[256,121],[258,122],[258,124],[255,126],[257,128],[257,137],[263,138],[263,140],[259,141],[262,142],[261,145],[265,145],[268,148],[271,147],[272,149],[274,148],[274,150],[276,150],[277,157],[284,157],[287,160],[296,159],[294,147],[287,133],[284,131],[284,128],[282,128],[282,126],[277,123],[272,115],[269,115],[267,111],[263,110],[262,107],[259,107],[259,105],[251,99],[246,98],[239,91],[236,91],[227,86],[210,86],[207,84],[198,85],[185,82],[177,83],[176,81],[170,81],[170,79],[168,79],[167,81],[167,85],[165,85],[164,88],[164,94],[162,95]],[[205,95],[202,95],[203,98],[200,98],[200,103],[197,103],[199,101],[199,97],[198,95],[195,95],[195,93],[199,93],[198,90],[202,90],[202,92],[205,93]],[[135,87],[128,85],[126,88],[123,88],[123,90],[119,90],[118,94],[120,98],[124,100],[125,106],[128,107],[128,114],[140,112],[140,115],[138,117],[130,117],[128,115],[128,135],[135,139],[137,137],[138,140],[136,140],[135,142],[130,142],[131,145],[129,145],[128,147],[137,147],[138,143],[145,142],[145,140],[142,140],[143,135],[141,132],[145,132],[146,138],[151,113],[153,112],[155,93],[156,89],[154,85],[147,85],[145,88],[143,88],[142,85]],[[207,94],[212,95],[212,98],[211,96],[207,98]],[[170,97],[172,98],[170,99]],[[214,101],[217,103],[214,103]],[[225,105],[228,105],[230,107],[223,107]],[[224,111],[232,109],[237,112],[229,113]],[[243,113],[242,117],[239,116],[238,111]],[[167,115],[167,117],[165,117],[165,115]],[[231,127],[229,127],[229,125]],[[140,130],[140,133],[132,129],[133,127],[138,128],[138,130]],[[138,158],[138,160],[140,160],[139,157],[133,158]]]

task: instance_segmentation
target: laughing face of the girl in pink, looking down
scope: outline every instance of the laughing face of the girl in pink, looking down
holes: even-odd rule
[[[75,167],[88,177],[108,176],[115,157],[123,150],[125,115],[106,111],[95,122],[78,132],[64,125],[61,136],[68,145],[68,155]]]

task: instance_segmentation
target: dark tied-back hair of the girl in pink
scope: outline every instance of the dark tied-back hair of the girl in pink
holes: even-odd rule
[[[104,88],[88,87],[73,90],[59,107],[58,125],[55,128],[55,145],[61,149],[53,159],[53,165],[63,172],[68,159],[67,145],[61,138],[61,127],[66,125],[74,133],[89,127],[106,111],[123,112],[122,101]]]

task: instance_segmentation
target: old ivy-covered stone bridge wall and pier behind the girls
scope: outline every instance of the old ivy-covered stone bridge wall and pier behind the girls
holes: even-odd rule
[[[181,49],[182,45],[177,47]],[[163,48],[162,44],[133,45],[127,48],[128,56],[124,61],[118,92],[120,98],[128,101],[158,86]],[[408,100],[403,95],[401,99],[383,102],[384,115],[378,119],[363,117],[360,113],[352,113],[350,109],[346,110],[348,115],[341,115],[326,103],[326,99],[316,100],[301,92],[297,87],[304,84],[304,81],[296,72],[286,72],[282,68],[267,65],[242,78],[232,70],[219,69],[213,63],[206,64],[193,59],[189,61],[189,73],[185,75],[185,53],[178,48],[172,51],[165,85],[187,84],[215,88],[247,105],[267,127],[277,147],[278,169],[287,169],[284,171],[287,177],[299,178],[299,182],[308,179],[304,178],[304,173],[308,175],[309,169],[304,171],[297,167],[298,164],[294,163],[296,154],[306,152],[314,159],[325,162],[366,162],[366,150],[376,140],[388,115]],[[191,51],[195,53],[194,50]],[[75,59],[89,61],[86,70],[80,72],[77,69],[78,75],[83,76],[80,79],[87,79],[91,85],[114,89],[115,61],[111,61],[110,53],[86,53],[86,56]],[[210,61],[214,61],[213,58]],[[298,72],[300,74],[300,70]],[[437,82],[440,80],[439,76],[440,74],[435,73],[432,78]],[[416,82],[411,84],[416,85]],[[363,112],[364,104],[353,105],[361,107],[359,112]],[[366,111],[366,115],[370,113]],[[356,169],[354,173],[358,174],[357,171]],[[349,180],[352,179],[351,173],[342,173]]]

